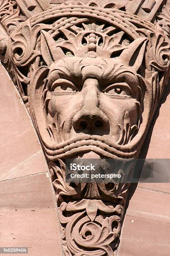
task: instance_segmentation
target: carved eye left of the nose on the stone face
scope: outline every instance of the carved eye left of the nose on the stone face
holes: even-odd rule
[[[77,92],[77,88],[69,80],[58,79],[52,84],[51,92]]]

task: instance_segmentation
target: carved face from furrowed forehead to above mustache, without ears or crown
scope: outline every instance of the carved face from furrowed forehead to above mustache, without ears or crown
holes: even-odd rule
[[[89,134],[125,144],[138,129],[138,77],[120,59],[55,61],[47,89],[47,123],[58,142]]]

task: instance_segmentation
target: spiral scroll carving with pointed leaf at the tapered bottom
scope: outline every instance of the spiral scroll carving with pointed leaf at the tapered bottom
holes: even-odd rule
[[[65,211],[71,212],[71,216],[65,217]],[[111,248],[110,243],[120,233],[122,213],[120,205],[113,207],[101,200],[62,202],[59,214],[60,222],[65,227],[62,234],[65,255],[113,255],[112,248],[117,244]],[[103,215],[106,215],[105,218]]]

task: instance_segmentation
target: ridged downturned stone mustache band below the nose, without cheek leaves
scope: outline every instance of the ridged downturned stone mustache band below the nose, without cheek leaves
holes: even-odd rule
[[[43,143],[43,146],[47,158],[52,161],[58,158],[69,158],[89,151],[93,151],[103,157],[115,159],[132,159],[136,158],[138,154],[137,147],[120,146],[109,139],[103,139],[101,136],[90,136],[87,134],[50,147]]]

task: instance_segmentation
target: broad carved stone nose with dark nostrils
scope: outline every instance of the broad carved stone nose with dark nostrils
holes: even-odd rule
[[[83,85],[82,108],[73,118],[75,131],[100,134],[108,128],[106,115],[99,109],[98,81],[87,79]]]

